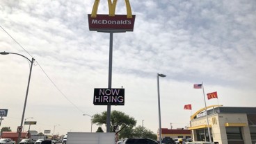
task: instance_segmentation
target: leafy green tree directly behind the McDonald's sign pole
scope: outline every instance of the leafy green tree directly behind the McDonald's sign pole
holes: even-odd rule
[[[118,132],[121,132],[125,127],[134,127],[136,125],[136,120],[134,118],[129,117],[122,111],[111,111],[110,118],[110,131],[115,132],[119,127]],[[93,123],[97,125],[106,125],[106,111],[103,111],[102,114],[95,114],[93,116]],[[116,133],[118,133],[116,132]]]

